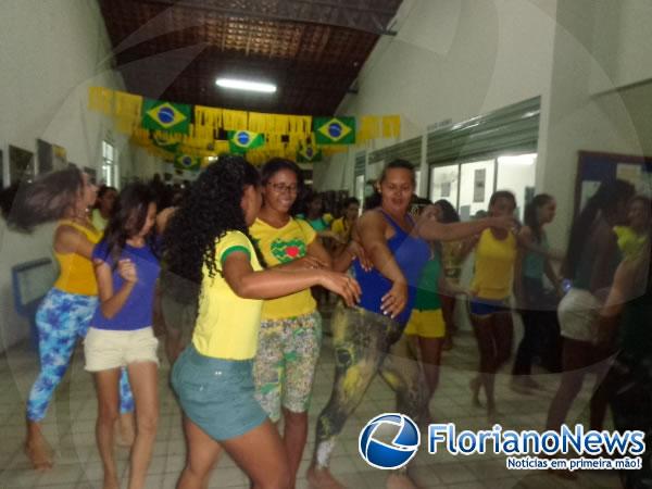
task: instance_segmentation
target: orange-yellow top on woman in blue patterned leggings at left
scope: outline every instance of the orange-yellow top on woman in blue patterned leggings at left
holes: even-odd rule
[[[102,234],[97,229],[89,229],[73,221],[60,221],[59,226],[71,226],[82,233],[93,244],[99,242]],[[79,293],[83,296],[97,296],[98,283],[96,280],[92,262],[77,253],[58,253],[54,256],[59,262],[59,278],[54,287],[67,293]]]

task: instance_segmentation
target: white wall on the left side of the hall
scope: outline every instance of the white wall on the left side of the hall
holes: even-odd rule
[[[0,145],[36,150],[36,139],[63,146],[79,166],[99,170],[108,120],[87,110],[87,88],[123,89],[109,70],[110,42],[96,1],[4,0],[0,15]],[[126,139],[113,135],[125,162]],[[7,160],[7,153],[4,154]],[[27,335],[15,315],[11,267],[49,256],[51,227],[32,236],[0,235],[0,351]]]

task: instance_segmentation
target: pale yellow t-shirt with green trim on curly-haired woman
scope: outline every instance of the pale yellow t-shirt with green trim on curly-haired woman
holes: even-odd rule
[[[254,271],[261,271],[251,241],[240,231],[228,231],[215,242],[215,261],[222,271],[224,260],[234,251],[249,254]],[[242,299],[217,273],[209,277],[203,266],[197,324],[192,344],[205,356],[225,360],[249,360],[255,356],[261,325],[262,300]]]

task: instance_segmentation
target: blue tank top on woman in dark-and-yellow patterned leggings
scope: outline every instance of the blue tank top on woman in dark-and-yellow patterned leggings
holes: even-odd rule
[[[383,211],[380,211],[383,212]],[[430,259],[430,247],[421,239],[410,236],[385,212],[383,215],[393,227],[394,235],[387,240],[387,247],[393,255],[399,268],[408,280],[408,304],[401,314],[394,319],[400,324],[406,324],[410,313],[414,306],[414,299],[422,272]],[[353,263],[355,278],[362,288],[362,298],[360,306],[376,314],[383,314],[380,302],[391,289],[392,281],[385,277],[376,268],[365,272],[360,265],[360,261]]]

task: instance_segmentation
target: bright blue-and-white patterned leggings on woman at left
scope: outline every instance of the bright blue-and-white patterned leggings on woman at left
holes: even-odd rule
[[[54,389],[67,371],[77,338],[85,338],[98,305],[95,296],[51,289],[36,312],[40,372],[27,400],[27,419],[46,417]],[[120,378],[121,413],[134,411],[134,397],[125,369]]]

